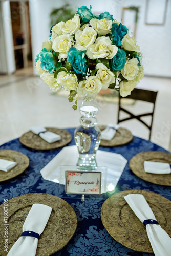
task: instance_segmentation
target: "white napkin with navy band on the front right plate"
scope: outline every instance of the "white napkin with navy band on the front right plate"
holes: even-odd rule
[[[130,205],[131,209],[141,222],[144,222],[144,220],[151,220],[151,223],[156,221],[153,211],[149,207],[143,195],[130,194],[125,196],[124,199]],[[147,224],[146,231],[154,254],[156,256],[170,256],[171,238],[168,236],[166,231],[164,231],[164,229],[162,229],[158,224]]]

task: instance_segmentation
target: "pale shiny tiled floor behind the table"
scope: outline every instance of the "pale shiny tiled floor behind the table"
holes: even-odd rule
[[[158,90],[152,141],[168,149],[171,133],[171,79],[144,77],[140,88]],[[80,102],[80,100],[79,100]],[[149,111],[151,104],[136,102],[127,106],[135,114]],[[118,106],[99,102],[98,124],[116,123]],[[52,93],[32,68],[13,75],[0,76],[0,144],[19,137],[33,125],[76,127],[79,111],[74,111],[66,97]],[[136,120],[124,122],[133,135],[148,138],[148,130]]]

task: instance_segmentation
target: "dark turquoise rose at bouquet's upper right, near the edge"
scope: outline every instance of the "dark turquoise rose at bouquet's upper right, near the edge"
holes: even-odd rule
[[[122,25],[121,23],[118,25],[117,23],[112,24],[111,28],[111,35],[110,39],[112,40],[113,44],[116,46],[122,46],[122,39],[127,34],[128,29],[126,26]]]

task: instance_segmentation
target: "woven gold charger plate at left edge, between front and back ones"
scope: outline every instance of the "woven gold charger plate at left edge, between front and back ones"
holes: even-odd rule
[[[0,159],[17,163],[17,165],[8,172],[0,170],[0,181],[9,180],[19,174],[22,174],[29,166],[29,158],[26,155],[14,150],[0,150]]]

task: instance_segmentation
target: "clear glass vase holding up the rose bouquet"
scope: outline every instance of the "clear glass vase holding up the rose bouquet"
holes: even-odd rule
[[[80,125],[75,130],[75,143],[78,147],[77,166],[83,170],[97,167],[96,151],[100,144],[100,129],[96,126],[98,105],[95,97],[84,96],[79,108]]]

